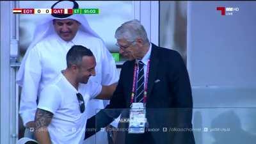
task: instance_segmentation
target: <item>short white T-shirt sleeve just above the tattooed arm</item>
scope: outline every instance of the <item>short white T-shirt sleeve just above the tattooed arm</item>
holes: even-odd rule
[[[60,90],[54,85],[45,86],[40,93],[40,99],[37,108],[50,111],[55,114],[57,109],[60,108],[62,101]]]

